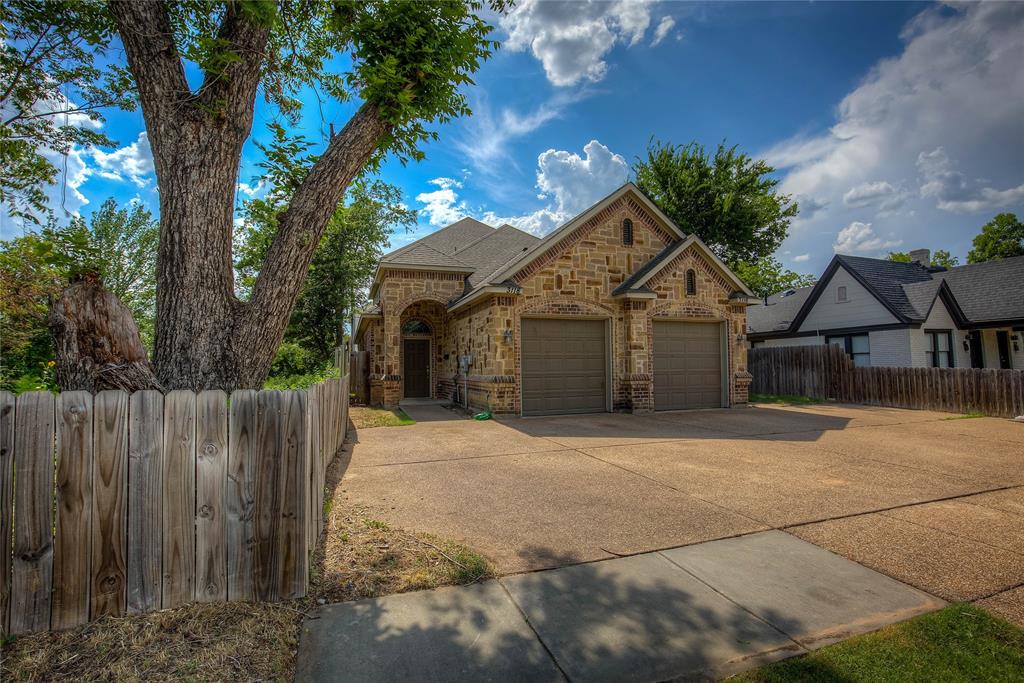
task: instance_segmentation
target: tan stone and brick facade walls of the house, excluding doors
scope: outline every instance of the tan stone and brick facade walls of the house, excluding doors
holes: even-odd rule
[[[612,410],[658,408],[653,399],[656,319],[722,325],[727,402],[744,403],[750,382],[742,336],[745,297],[734,296],[742,286],[699,242],[682,248],[685,237],[642,199],[625,193],[599,205],[586,221],[556,232],[546,249],[514,266],[518,269],[506,279],[505,290],[481,291],[468,303],[464,274],[382,270],[379,314],[360,324],[356,338],[372,357],[372,400],[394,404],[402,397],[402,326],[421,319],[431,329],[433,396],[517,414],[521,321],[586,317],[608,322]],[[627,219],[632,221],[632,244],[624,241]],[[675,248],[680,248],[678,254]],[[664,262],[656,262],[639,294],[614,293],[659,255]],[[688,270],[694,276],[692,294],[686,289]],[[466,367],[460,368],[460,359],[468,360]]]

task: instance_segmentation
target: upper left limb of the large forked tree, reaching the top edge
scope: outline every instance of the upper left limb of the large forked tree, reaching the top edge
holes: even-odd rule
[[[161,0],[111,0],[110,7],[138,86],[146,130],[159,143],[176,104],[191,96],[167,6]]]

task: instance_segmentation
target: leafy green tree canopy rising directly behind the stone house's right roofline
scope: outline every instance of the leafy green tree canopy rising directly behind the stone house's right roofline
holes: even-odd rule
[[[677,146],[654,140],[646,159],[633,165],[637,186],[730,266],[770,257],[799,211],[776,190],[774,170],[724,143],[712,154],[696,142]]]

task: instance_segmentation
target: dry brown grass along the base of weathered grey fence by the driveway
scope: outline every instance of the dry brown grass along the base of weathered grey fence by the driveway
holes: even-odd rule
[[[465,546],[395,528],[375,510],[346,504],[339,485],[346,460],[342,455],[328,469],[327,528],[307,597],[272,604],[190,604],[12,638],[0,652],[0,680],[290,681],[302,620],[319,601],[494,575],[490,563]]]

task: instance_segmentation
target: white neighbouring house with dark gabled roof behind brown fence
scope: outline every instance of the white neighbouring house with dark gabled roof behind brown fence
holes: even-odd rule
[[[837,255],[746,309],[754,347],[836,344],[858,366],[1024,369],[1024,256],[942,268]]]

